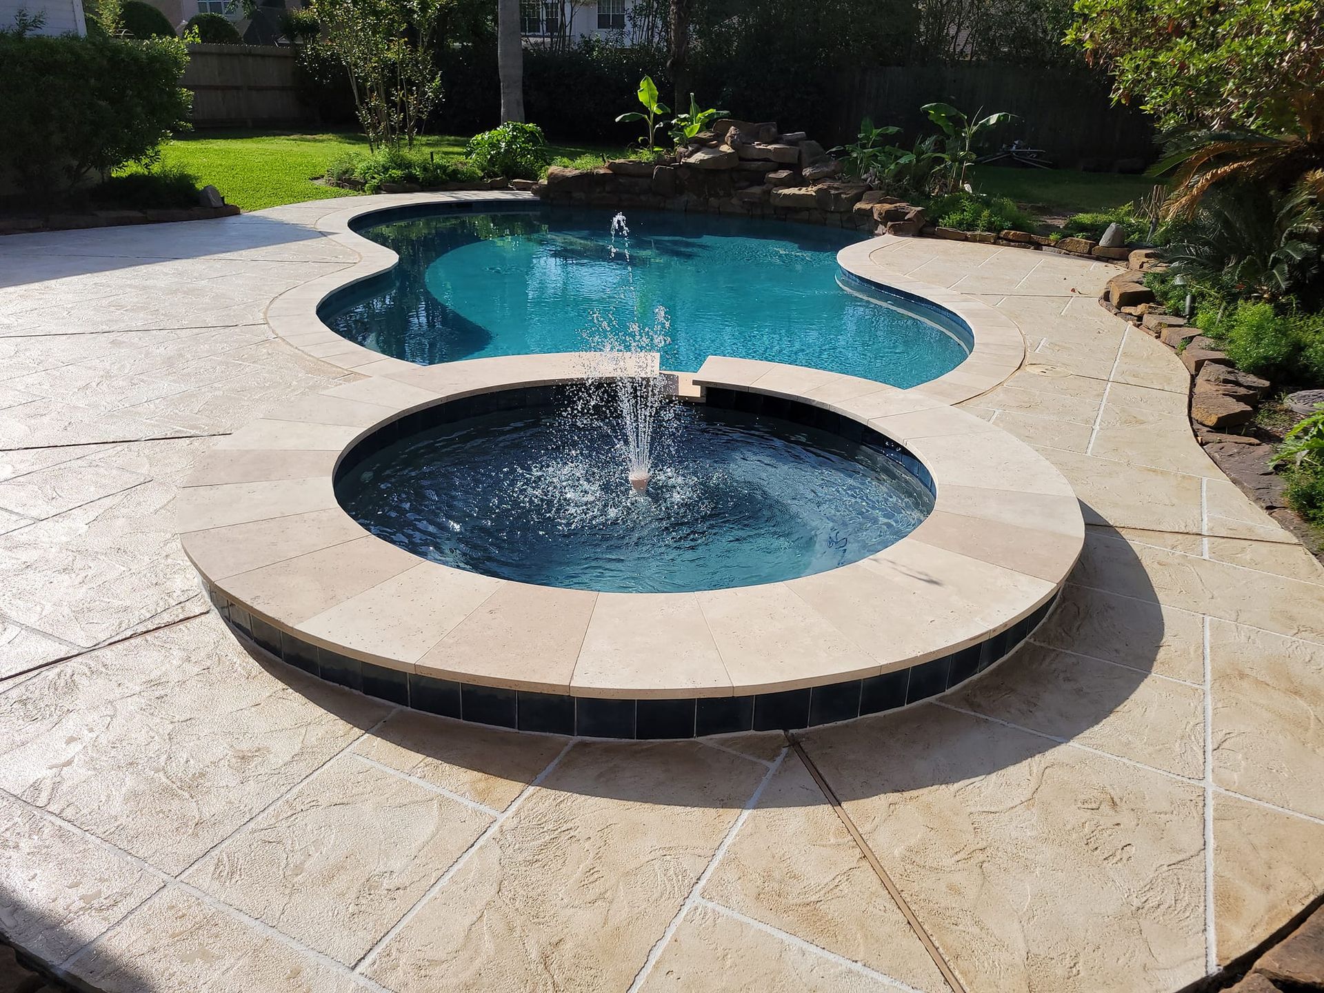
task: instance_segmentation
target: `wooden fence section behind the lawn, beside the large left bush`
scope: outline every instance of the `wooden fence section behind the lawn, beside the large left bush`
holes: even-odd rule
[[[189,45],[180,85],[193,91],[193,127],[307,123],[294,58],[294,49],[274,45]]]

